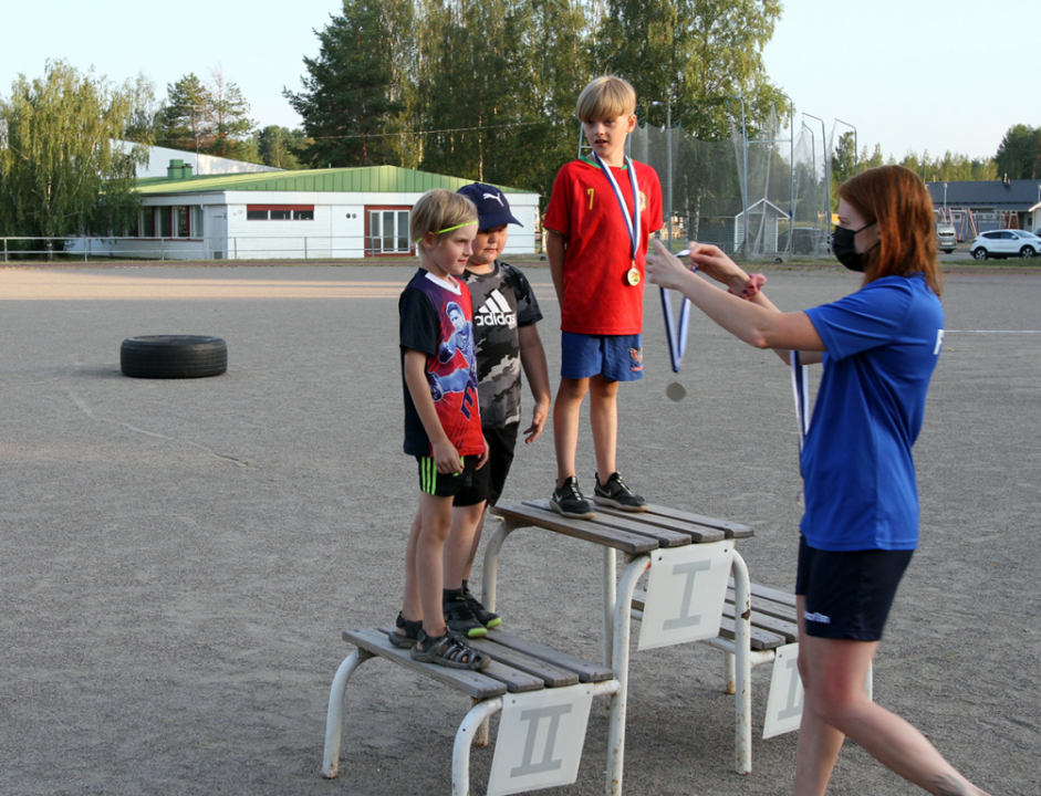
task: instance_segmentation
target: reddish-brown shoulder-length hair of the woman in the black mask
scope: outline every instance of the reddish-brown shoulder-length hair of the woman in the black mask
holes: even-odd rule
[[[839,196],[865,222],[878,224],[878,244],[864,254],[864,284],[922,273],[940,294],[933,199],[918,175],[903,166],[879,166],[847,179],[839,186]]]

